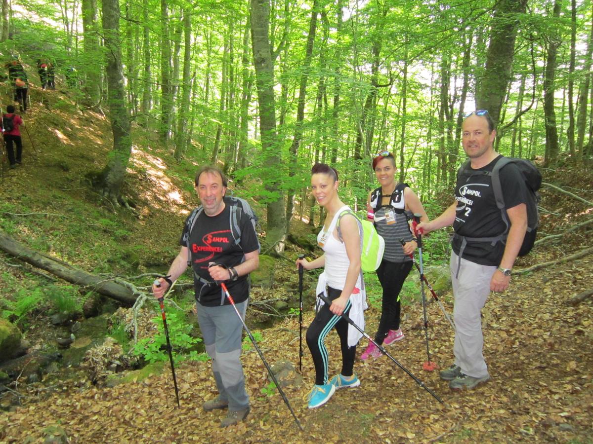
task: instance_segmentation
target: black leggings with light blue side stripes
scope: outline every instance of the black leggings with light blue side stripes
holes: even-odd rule
[[[340,297],[342,290],[335,288],[327,288],[327,296],[330,301]],[[344,313],[350,313],[350,301],[346,304]],[[352,369],[354,367],[354,358],[356,356],[356,346],[348,346],[348,323],[342,316],[336,316],[331,313],[327,305],[323,305],[315,315],[315,318],[309,328],[307,329],[307,345],[313,357],[315,365],[315,384],[327,384],[327,362],[328,355],[326,345],[324,343],[327,334],[331,329],[336,329],[338,336],[340,336],[340,347],[342,348],[342,375],[352,376]]]

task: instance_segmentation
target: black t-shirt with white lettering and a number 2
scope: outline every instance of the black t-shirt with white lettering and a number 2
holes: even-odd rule
[[[479,169],[464,172],[455,185],[455,234],[466,237],[495,237],[505,231],[506,224],[496,206],[492,178],[484,175],[484,171],[492,172],[497,156],[488,165]],[[525,181],[517,166],[512,163],[500,169],[500,187],[505,200],[505,209],[516,207],[527,202]],[[452,248],[459,255],[461,238],[455,236]],[[496,242],[468,242],[463,251],[463,258],[480,265],[498,266],[505,250],[505,244]]]

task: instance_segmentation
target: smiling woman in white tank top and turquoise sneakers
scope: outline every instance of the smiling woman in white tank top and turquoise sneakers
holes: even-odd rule
[[[307,329],[307,345],[315,365],[315,385],[307,395],[309,408],[327,403],[336,388],[361,385],[353,368],[356,344],[362,334],[340,316],[346,314],[364,329],[366,295],[361,273],[361,231],[352,210],[340,201],[337,189],[337,171],[324,163],[315,163],[311,169],[311,191],[327,211],[323,229],[317,235],[317,243],[324,253],[312,262],[297,259],[297,268],[299,264],[306,270],[324,267],[317,294],[323,293],[331,305],[321,306]],[[334,328],[340,337],[342,372],[328,381],[325,339]]]

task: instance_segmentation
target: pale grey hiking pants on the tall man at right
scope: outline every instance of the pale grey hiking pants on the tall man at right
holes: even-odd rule
[[[458,261],[458,256],[451,252],[449,271],[454,296],[455,365],[460,366],[461,372],[468,376],[484,378],[488,376],[488,368],[482,354],[484,337],[480,314],[490,294],[490,280],[496,266],[480,265],[462,258],[455,278]]]

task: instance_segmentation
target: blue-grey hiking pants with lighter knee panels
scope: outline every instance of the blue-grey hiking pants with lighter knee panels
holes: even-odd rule
[[[245,319],[247,301],[237,305]],[[245,391],[245,377],[241,365],[241,331],[243,325],[232,305],[197,306],[197,321],[200,324],[206,353],[212,358],[212,372],[222,400],[228,401],[229,410],[249,407]]]

